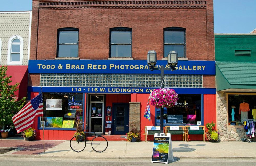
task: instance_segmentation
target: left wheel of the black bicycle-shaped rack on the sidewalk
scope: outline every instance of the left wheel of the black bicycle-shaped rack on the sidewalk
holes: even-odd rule
[[[75,152],[81,152],[86,147],[86,141],[84,137],[78,135],[71,138],[69,145]]]

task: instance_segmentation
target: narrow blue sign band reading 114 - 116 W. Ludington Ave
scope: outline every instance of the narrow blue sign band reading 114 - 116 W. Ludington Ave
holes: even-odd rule
[[[42,87],[42,92],[63,93],[140,93],[146,94],[158,88],[145,87]],[[178,94],[216,94],[215,88],[173,88]],[[41,87],[28,87],[28,92],[41,92]]]

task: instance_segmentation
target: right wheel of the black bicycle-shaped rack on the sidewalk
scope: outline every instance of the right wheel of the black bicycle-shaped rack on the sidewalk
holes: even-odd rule
[[[92,139],[92,149],[95,152],[103,152],[108,147],[108,141],[105,137],[102,136],[96,136]]]

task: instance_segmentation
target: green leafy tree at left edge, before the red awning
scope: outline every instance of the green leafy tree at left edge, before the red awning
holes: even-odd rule
[[[0,126],[10,126],[13,124],[12,117],[22,109],[26,97],[15,101],[14,92],[18,90],[19,83],[9,85],[12,81],[6,75],[7,66],[0,67]]]

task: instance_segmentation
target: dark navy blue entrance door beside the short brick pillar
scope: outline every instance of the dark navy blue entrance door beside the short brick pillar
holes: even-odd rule
[[[125,135],[129,132],[129,104],[113,104],[113,134]]]

